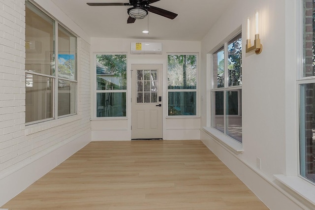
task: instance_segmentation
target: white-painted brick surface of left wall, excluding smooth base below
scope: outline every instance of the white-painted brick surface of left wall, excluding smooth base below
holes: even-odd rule
[[[0,179],[91,131],[90,44],[81,38],[78,115],[25,125],[24,3],[0,0]]]

